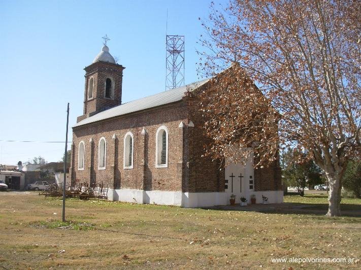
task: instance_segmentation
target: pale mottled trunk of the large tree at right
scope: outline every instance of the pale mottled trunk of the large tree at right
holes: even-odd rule
[[[341,176],[327,174],[329,180],[329,211],[326,216],[341,216]]]

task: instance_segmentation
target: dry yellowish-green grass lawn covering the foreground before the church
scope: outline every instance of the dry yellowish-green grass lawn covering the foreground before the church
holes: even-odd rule
[[[37,192],[0,192],[0,268],[361,267],[360,199],[343,217],[324,217],[324,196],[285,196],[274,212],[185,209],[107,201],[62,201]],[[272,206],[272,205],[270,205]],[[306,210],[305,210],[306,209]],[[323,210],[313,213],[313,210]],[[347,262],[272,262],[285,258],[354,258]]]

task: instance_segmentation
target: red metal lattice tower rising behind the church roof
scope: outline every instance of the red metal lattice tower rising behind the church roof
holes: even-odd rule
[[[167,35],[166,90],[184,85],[184,35]]]

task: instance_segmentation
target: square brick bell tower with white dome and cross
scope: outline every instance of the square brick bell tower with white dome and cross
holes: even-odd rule
[[[115,62],[105,42],[92,64],[84,68],[84,114],[77,122],[121,104],[124,68]]]

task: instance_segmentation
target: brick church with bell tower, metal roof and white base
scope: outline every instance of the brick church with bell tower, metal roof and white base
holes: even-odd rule
[[[205,136],[194,91],[208,80],[121,102],[123,67],[104,46],[85,67],[84,113],[73,127],[72,183],[108,184],[108,199],[207,207],[251,195],[283,202],[279,163],[253,169],[202,157]],[[130,91],[130,90],[125,90]]]

